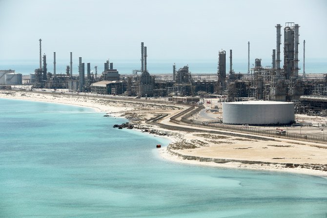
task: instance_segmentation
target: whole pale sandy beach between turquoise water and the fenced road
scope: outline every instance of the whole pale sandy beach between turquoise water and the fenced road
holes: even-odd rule
[[[86,106],[108,116],[125,117],[134,129],[169,137],[172,142],[159,150],[161,157],[170,161],[327,177],[326,144],[215,132],[170,122],[170,118],[187,109],[186,106],[11,90],[1,90],[0,98]],[[158,117],[155,122],[150,121]],[[158,126],[158,123],[162,125]],[[176,127],[184,129],[176,130]]]

